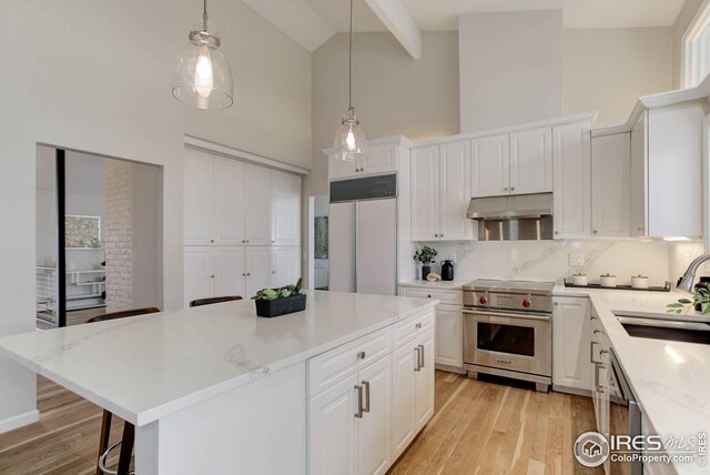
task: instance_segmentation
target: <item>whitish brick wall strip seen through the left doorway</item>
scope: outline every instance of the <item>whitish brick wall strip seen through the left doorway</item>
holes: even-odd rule
[[[131,163],[106,160],[106,312],[133,306]]]

